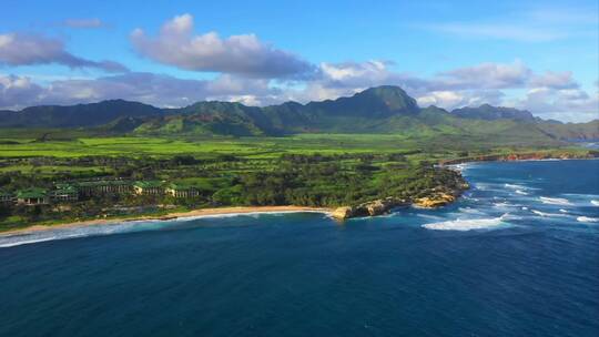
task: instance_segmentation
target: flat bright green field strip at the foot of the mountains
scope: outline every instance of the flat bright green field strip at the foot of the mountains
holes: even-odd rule
[[[461,140],[459,143],[467,143]],[[451,156],[464,149],[486,153],[514,151],[516,145],[493,146],[481,141],[457,146],[451,140],[410,139],[388,134],[298,134],[283,137],[77,137],[39,142],[31,137],[0,137],[0,157],[79,156],[170,156],[190,154],[214,156],[234,154],[245,157],[275,157],[283,153],[341,154],[389,153],[419,149]],[[542,149],[529,146],[528,149]]]

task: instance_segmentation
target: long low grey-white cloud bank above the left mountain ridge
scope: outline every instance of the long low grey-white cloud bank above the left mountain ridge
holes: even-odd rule
[[[0,109],[40,104],[78,104],[124,99],[156,106],[185,106],[197,101],[240,101],[252,105],[278,102],[281,91],[267,80],[221,75],[214,80],[182,80],[130,72],[99,79],[57,80],[41,86],[27,76],[0,75]]]

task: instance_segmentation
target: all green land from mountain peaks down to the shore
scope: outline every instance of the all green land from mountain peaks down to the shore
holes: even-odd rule
[[[77,106],[32,108],[26,114],[44,118],[31,125],[26,114],[3,112],[0,231],[222,206],[345,206],[348,215],[372,215],[455,200],[466,184],[439,164],[598,156],[565,142],[592,139],[595,122],[560,124],[490,105],[420,109],[389,86],[264,109],[227,102],[181,110],[124,101]],[[101,118],[88,125],[79,113]],[[99,184],[110,193],[90,190]],[[32,191],[40,198],[19,201]]]

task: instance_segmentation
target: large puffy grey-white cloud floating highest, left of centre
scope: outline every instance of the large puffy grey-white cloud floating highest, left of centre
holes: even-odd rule
[[[216,32],[194,35],[192,31],[193,17],[183,14],[166,21],[156,37],[135,29],[131,42],[141,55],[185,70],[253,78],[294,78],[313,70],[308,62],[254,34],[221,39]]]

